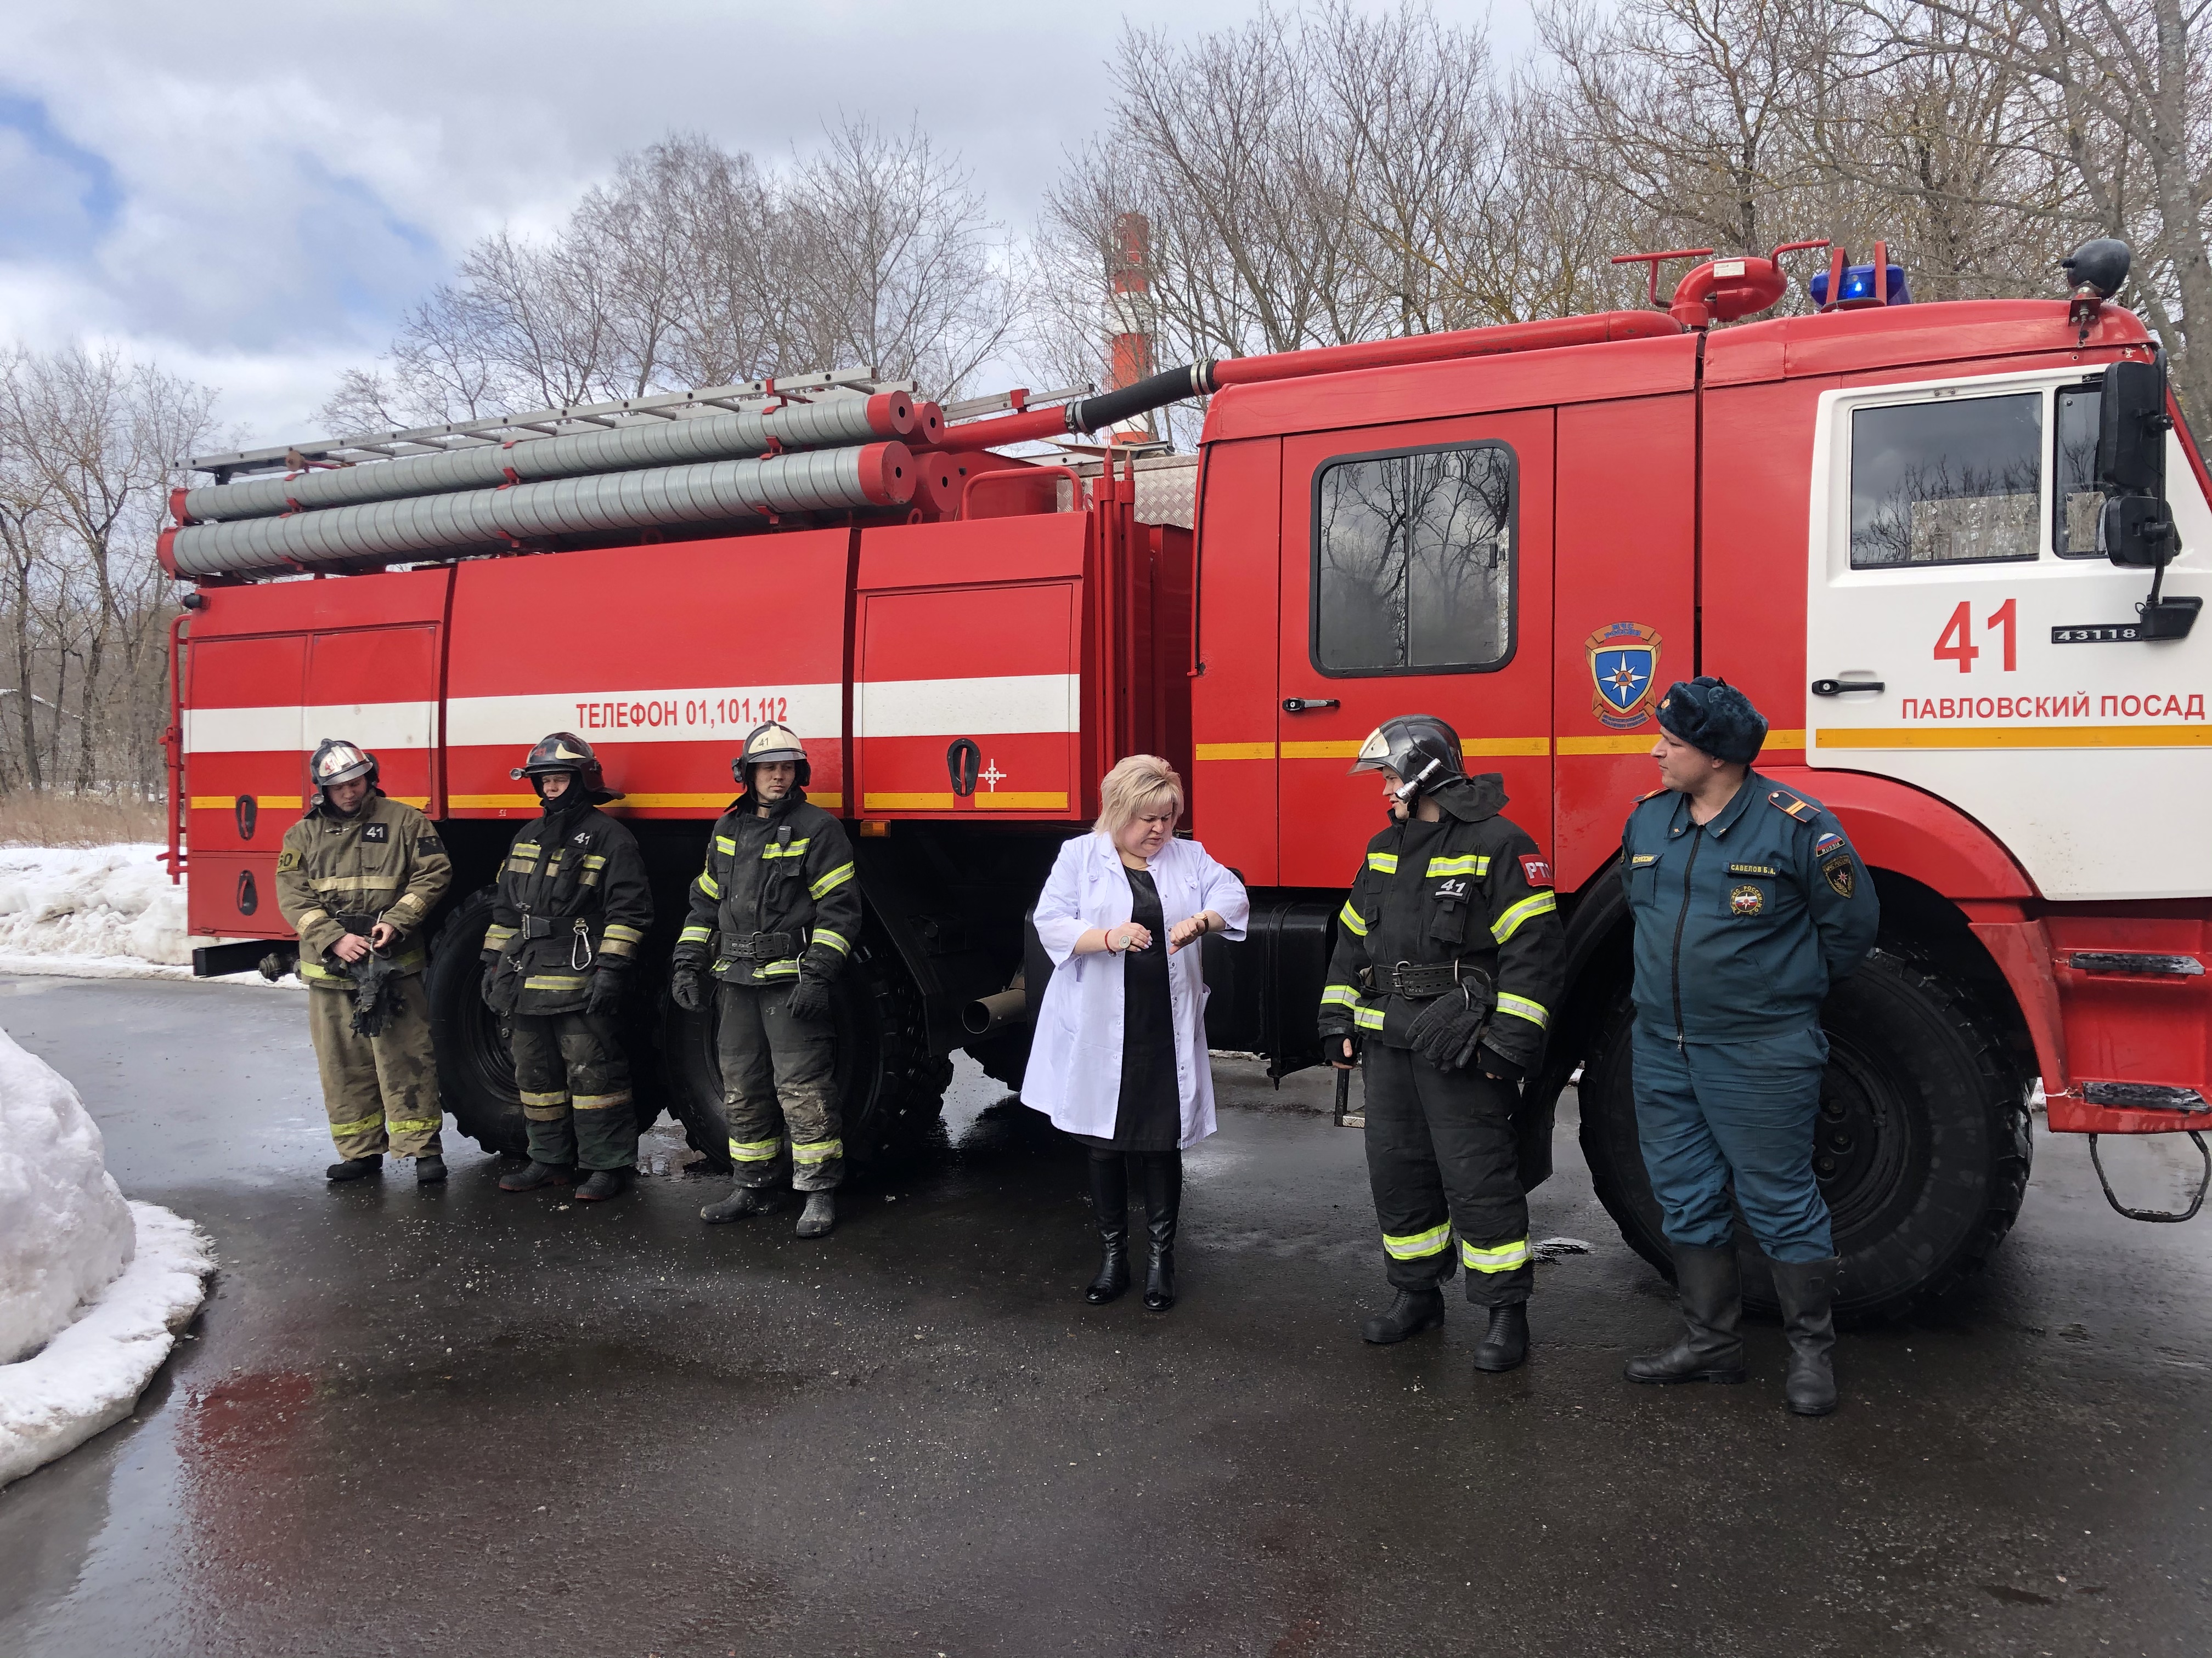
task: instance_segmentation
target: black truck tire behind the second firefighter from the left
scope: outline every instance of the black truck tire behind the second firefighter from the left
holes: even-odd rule
[[[429,944],[422,975],[429,993],[429,1028],[438,1043],[438,1092],[453,1123],[487,1152],[522,1156],[529,1123],[515,1088],[515,1061],[507,1026],[482,995],[484,931],[491,926],[491,889],[469,893],[445,917]],[[624,1048],[637,1092],[637,1132],[661,1114],[659,1059],[653,1052],[653,986],[635,986],[624,1004]]]

